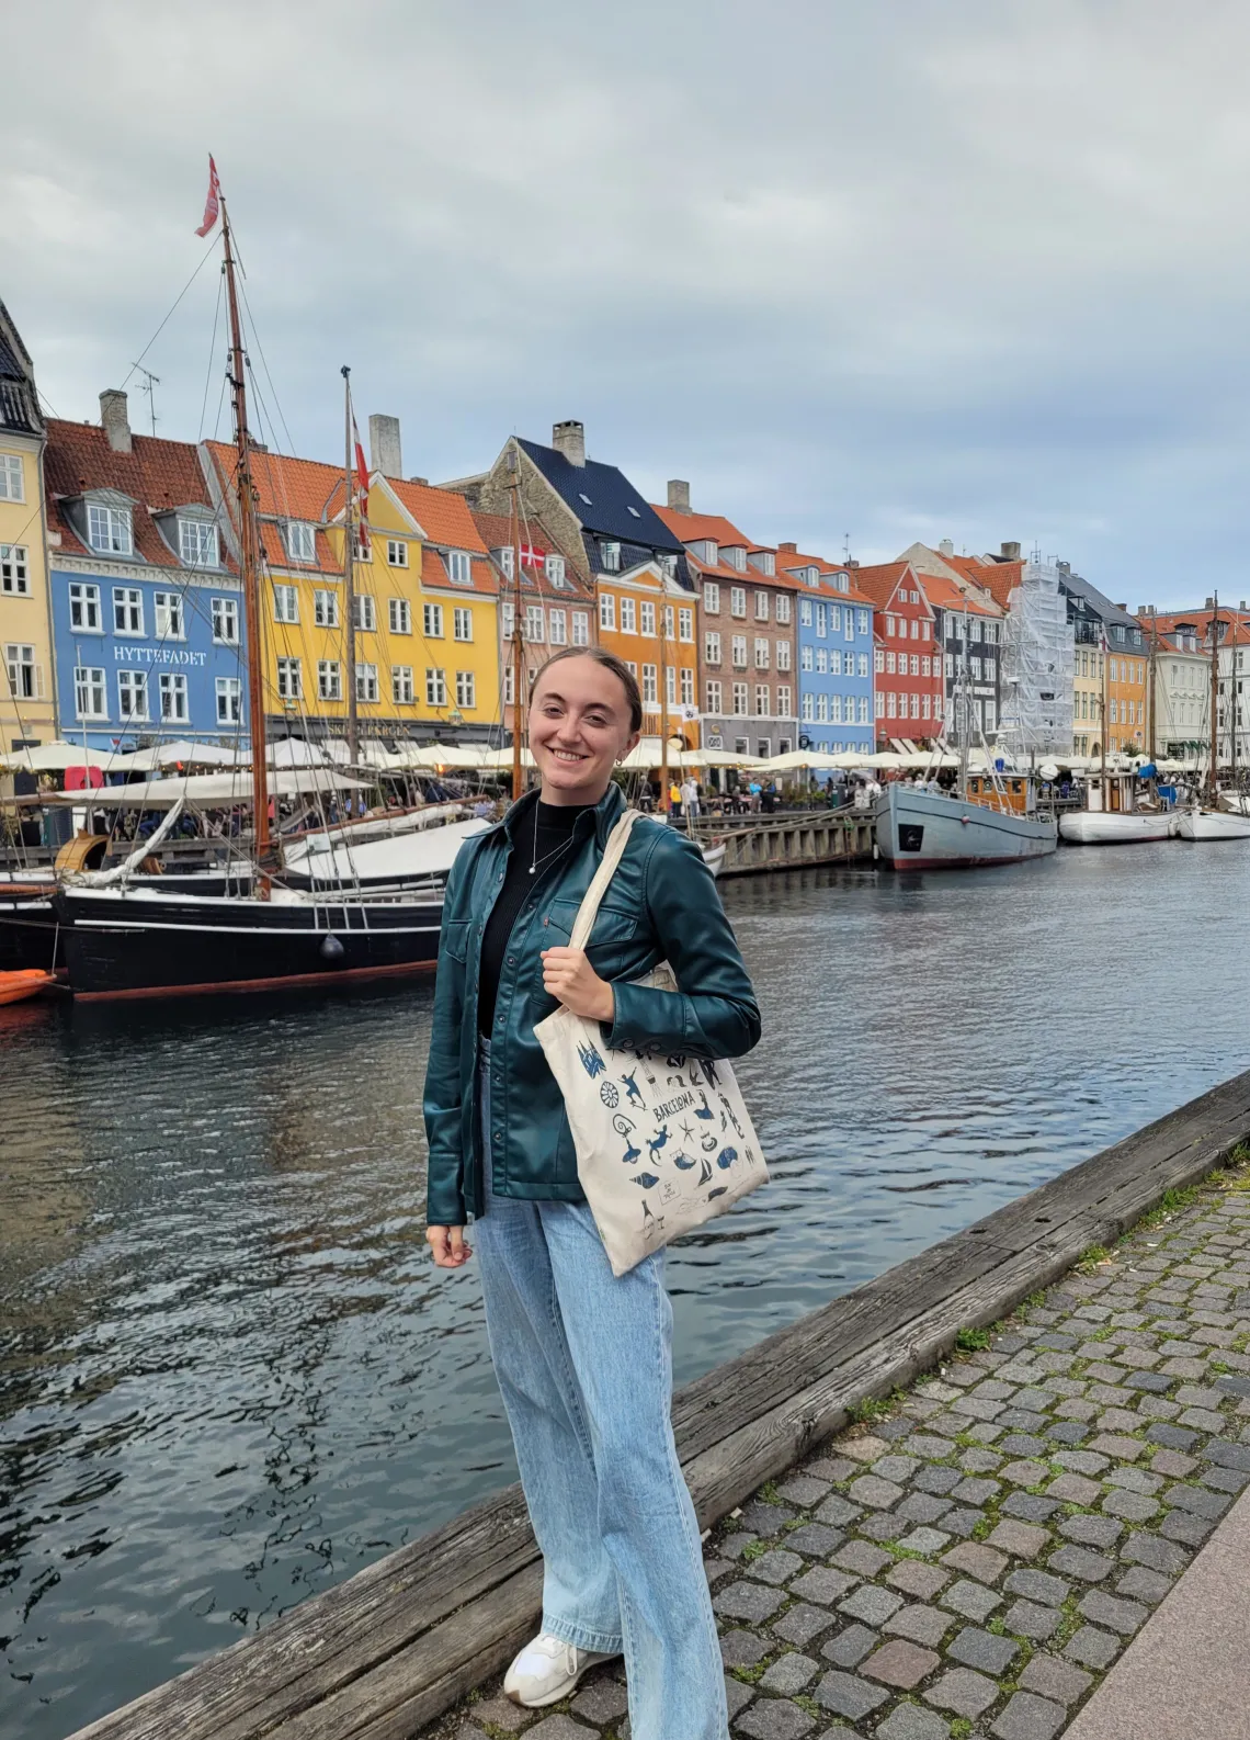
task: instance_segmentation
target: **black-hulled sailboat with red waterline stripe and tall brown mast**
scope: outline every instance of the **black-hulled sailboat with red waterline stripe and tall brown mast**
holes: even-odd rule
[[[214,212],[214,219],[216,219]],[[235,421],[235,496],[247,625],[247,693],[252,736],[250,807],[256,865],[245,891],[212,894],[139,886],[137,863],[116,872],[64,879],[54,894],[70,988],[83,999],[188,995],[325,985],[433,969],[438,959],[443,891],[433,877],[421,889],[370,891],[358,879],[332,886],[282,886],[280,844],[269,830],[269,766],[261,658],[261,548],[252,487],[235,251],[226,202],[219,202],[229,313],[229,385]],[[344,371],[346,383],[346,371]],[[344,385],[344,400],[349,395]],[[353,466],[344,470],[344,579],[351,609]],[[351,666],[349,666],[351,668]],[[355,687],[355,686],[351,686]],[[170,811],[170,816],[176,811]],[[169,816],[162,828],[169,828]],[[146,842],[158,844],[162,828]],[[139,854],[132,854],[137,858]],[[158,880],[158,879],[153,879]],[[315,882],[315,879],[313,879]]]

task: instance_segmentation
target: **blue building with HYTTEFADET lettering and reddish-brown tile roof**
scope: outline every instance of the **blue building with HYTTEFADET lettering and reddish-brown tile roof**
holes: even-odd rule
[[[243,595],[189,442],[49,423],[49,585],[63,738],[247,743]]]

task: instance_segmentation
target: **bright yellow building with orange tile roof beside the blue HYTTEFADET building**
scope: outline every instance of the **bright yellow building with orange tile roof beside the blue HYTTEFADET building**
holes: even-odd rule
[[[203,463],[214,499],[224,496],[233,512],[235,449],[209,442]],[[342,468],[257,449],[254,482],[269,729],[341,738]],[[464,499],[374,472],[353,597],[362,740],[424,740],[433,726],[449,741],[483,741],[501,717],[495,576]]]

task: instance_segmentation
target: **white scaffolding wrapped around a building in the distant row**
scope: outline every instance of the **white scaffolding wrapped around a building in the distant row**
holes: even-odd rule
[[[998,746],[1017,760],[1073,752],[1073,630],[1050,562],[1024,562],[1003,621]]]

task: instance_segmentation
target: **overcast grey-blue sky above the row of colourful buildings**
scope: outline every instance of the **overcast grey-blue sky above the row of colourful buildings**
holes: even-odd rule
[[[574,416],[760,541],[1241,597],[1248,49],[1224,0],[43,0],[0,298],[97,418],[212,247],[144,360],[226,432],[214,151],[283,447],[337,459],[346,362],[433,482]]]

